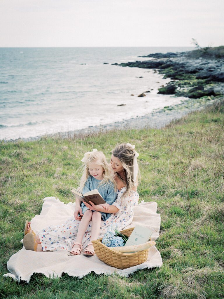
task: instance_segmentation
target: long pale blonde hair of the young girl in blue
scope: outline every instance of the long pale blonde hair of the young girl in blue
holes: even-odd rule
[[[88,165],[89,163],[96,163],[103,168],[103,179],[99,183],[100,185],[106,185],[109,184],[111,185],[114,190],[116,190],[116,183],[114,180],[114,172],[107,163],[106,157],[102,152],[96,151],[96,152],[91,152],[88,159],[86,160],[85,164],[83,164],[83,175],[80,180],[80,185],[79,185],[79,190],[82,190],[83,187],[85,186],[85,182],[87,181],[88,177],[91,176],[89,173],[89,168]]]

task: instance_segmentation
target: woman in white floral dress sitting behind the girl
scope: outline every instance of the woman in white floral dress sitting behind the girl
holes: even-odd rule
[[[136,192],[137,175],[139,172],[137,164],[138,153],[134,150],[134,147],[135,146],[132,146],[131,144],[124,143],[120,144],[112,151],[110,162],[116,175],[115,181],[117,184],[117,199],[113,205],[109,207],[109,210],[105,211],[105,209],[101,206],[96,206],[91,202],[91,205],[85,203],[90,210],[112,213],[111,217],[109,217],[105,222],[101,221],[99,238],[103,237],[111,223],[117,223],[121,230],[132,222],[134,215],[133,206],[138,204],[139,199],[139,195]],[[40,232],[37,232],[37,235],[35,236],[36,243],[31,246],[32,248],[28,246],[29,249],[35,251],[65,250],[68,252],[71,251],[73,255],[75,255],[76,252],[73,252],[72,248],[76,249],[81,247],[77,244],[73,246],[73,240],[76,239],[79,222],[83,216],[80,203],[81,202],[76,199],[76,208],[74,212],[75,219],[69,219],[62,225],[50,226]],[[25,231],[32,233],[30,222],[27,227],[25,227]],[[63,237],[62,234],[64,234]],[[89,224],[82,239],[83,248],[89,244],[90,235],[91,224]],[[24,246],[27,248],[25,244]],[[91,251],[87,251],[86,253],[93,255],[93,245],[88,245],[88,249]]]

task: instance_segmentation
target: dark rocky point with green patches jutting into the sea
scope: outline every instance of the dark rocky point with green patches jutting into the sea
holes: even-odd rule
[[[164,78],[172,79],[167,86],[159,88],[161,94],[207,100],[224,94],[224,46],[142,57],[152,59],[113,65],[159,69]]]

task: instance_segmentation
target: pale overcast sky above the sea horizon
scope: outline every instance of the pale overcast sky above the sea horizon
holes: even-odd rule
[[[0,0],[0,47],[224,45],[223,0]]]

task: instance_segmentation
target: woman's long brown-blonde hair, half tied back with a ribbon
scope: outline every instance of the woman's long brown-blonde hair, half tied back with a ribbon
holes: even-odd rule
[[[122,194],[123,196],[128,196],[131,190],[135,187],[134,182],[134,156],[135,150],[128,143],[119,144],[112,151],[112,155],[118,158],[121,162],[121,166],[125,173],[125,181],[116,173],[116,175],[124,182],[126,191]],[[139,176],[139,173],[138,173]]]

